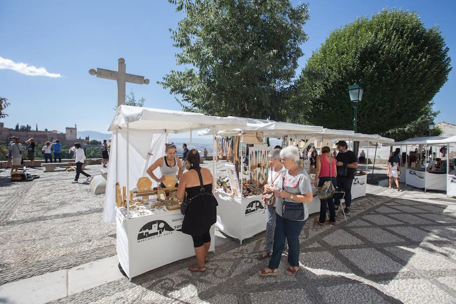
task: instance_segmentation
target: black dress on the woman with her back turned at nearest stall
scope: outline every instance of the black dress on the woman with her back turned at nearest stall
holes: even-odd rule
[[[196,170],[200,178],[199,186],[185,188],[186,198],[193,198],[199,194],[203,187],[205,192],[212,192],[212,184],[203,185],[203,177],[201,176],[201,168],[192,168]],[[192,170],[191,169],[191,170]],[[182,232],[192,236],[201,236],[207,233],[210,227],[216,221],[217,209],[213,202],[213,197],[209,195],[200,195],[194,198],[187,207],[185,216],[182,222]]]

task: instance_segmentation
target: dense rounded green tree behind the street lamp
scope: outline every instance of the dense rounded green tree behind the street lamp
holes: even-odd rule
[[[425,28],[415,12],[387,10],[363,17],[329,34],[308,60],[296,84],[300,121],[353,129],[346,89],[365,88],[358,132],[384,133],[427,115],[427,106],[451,70],[438,26]],[[323,74],[323,78],[312,77]],[[311,75],[311,76],[310,76]]]

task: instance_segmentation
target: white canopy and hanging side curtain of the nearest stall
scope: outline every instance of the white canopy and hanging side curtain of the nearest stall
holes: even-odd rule
[[[214,132],[242,126],[244,125],[234,117],[120,105],[109,126],[113,136],[106,179],[104,220],[116,219],[116,183],[119,182],[121,188],[126,186],[128,193],[136,187],[139,177],[146,176],[147,168],[165,155],[166,133],[204,128],[210,128]],[[154,174],[160,175],[160,169],[156,170]],[[155,181],[153,186],[156,186]]]

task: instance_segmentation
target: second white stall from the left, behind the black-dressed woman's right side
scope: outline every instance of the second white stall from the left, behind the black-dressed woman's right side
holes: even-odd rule
[[[321,132],[323,127],[320,126],[306,126],[299,124],[291,124],[285,122],[276,122],[270,120],[250,119],[250,118],[236,118],[245,127],[230,128],[217,133],[219,136],[241,136],[240,155],[242,155],[241,164],[244,163],[244,155],[242,154],[242,144],[244,143],[243,136],[245,131],[262,132],[263,137],[283,137],[292,134],[310,134],[314,132]],[[199,132],[199,135],[205,135],[207,132]],[[262,163],[268,163],[267,154],[272,149],[266,145],[258,144],[249,148],[249,154],[252,151],[263,153],[266,156]],[[248,156],[246,156],[248,157]],[[241,170],[242,171],[242,170]],[[255,171],[256,172],[256,171]],[[267,174],[267,171],[262,171],[262,174]],[[247,176],[250,172],[247,171]],[[236,175],[236,174],[235,174]],[[241,173],[241,176],[246,176]],[[235,177],[239,179],[239,177]],[[218,201],[217,207],[217,229],[227,236],[242,241],[253,237],[254,235],[266,230],[266,209],[261,204],[261,195],[252,195],[244,197],[242,195],[243,178],[239,180],[241,193],[238,196],[232,196],[223,191],[217,191],[215,197]],[[309,212],[316,212],[317,206],[312,207],[314,204],[309,203]],[[312,210],[312,211],[311,211]],[[320,211],[320,203],[318,202],[318,211]]]

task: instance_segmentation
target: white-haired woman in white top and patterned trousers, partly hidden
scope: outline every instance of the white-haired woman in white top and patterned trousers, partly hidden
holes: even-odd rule
[[[279,177],[283,172],[283,165],[280,162],[280,149],[272,149],[268,154],[269,166],[268,182],[264,184],[265,192],[274,192],[279,184]],[[263,252],[257,258],[262,260],[271,257],[274,243],[274,230],[276,229],[276,207],[275,204],[266,206],[266,244]]]

